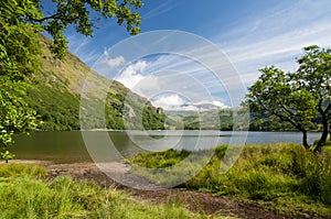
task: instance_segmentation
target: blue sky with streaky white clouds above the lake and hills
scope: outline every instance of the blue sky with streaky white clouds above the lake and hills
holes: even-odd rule
[[[331,7],[329,0],[146,0],[138,10],[142,15],[141,33],[158,30],[178,30],[196,34],[216,44],[228,57],[241,76],[245,87],[252,85],[259,76],[258,69],[267,65],[276,65],[285,70],[296,68],[295,57],[301,55],[301,48],[311,44],[323,47],[331,46]],[[70,51],[83,62],[98,70],[97,61],[110,52],[109,48],[122,40],[130,37],[125,28],[118,26],[115,20],[104,20],[99,23],[93,39],[66,31],[70,40]],[[116,59],[117,58],[117,59]],[[113,57],[114,62],[121,63],[125,58]],[[186,63],[185,63],[186,62]],[[151,76],[157,78],[156,67],[166,70],[169,64],[178,63],[170,72],[168,85],[184,87],[185,80],[179,84],[179,73],[194,72],[195,80],[211,94],[211,99],[203,97],[192,99],[189,94],[161,94],[149,97],[161,107],[171,108],[186,103],[191,99],[191,107],[199,102],[214,102],[216,106],[235,107],[226,92],[236,92],[221,88],[209,78],[209,70],[199,69],[192,62],[183,57],[159,55],[152,58],[141,58],[121,68],[115,77],[134,91],[148,96],[141,85],[148,86]],[[199,73],[199,74],[197,74]],[[192,74],[188,74],[190,77]],[[160,77],[163,77],[161,75]],[[192,76],[193,77],[193,76]],[[139,81],[146,81],[140,86]],[[164,78],[162,78],[164,80]],[[185,78],[188,79],[188,78]],[[194,84],[194,83],[193,83]],[[136,86],[135,86],[136,85]],[[137,86],[138,85],[138,86]],[[136,89],[135,89],[136,87]],[[199,86],[197,86],[199,87]],[[153,88],[160,90],[161,87]],[[196,94],[194,87],[190,90]],[[243,98],[243,91],[236,96]],[[185,96],[185,97],[184,97]],[[199,100],[200,99],[200,100]],[[168,106],[167,106],[168,103]],[[188,105],[185,105],[188,107]]]

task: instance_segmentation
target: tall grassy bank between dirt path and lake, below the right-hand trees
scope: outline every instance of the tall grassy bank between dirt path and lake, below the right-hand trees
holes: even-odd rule
[[[236,147],[218,146],[209,164],[181,186],[211,191],[245,201],[257,201],[265,208],[292,216],[331,216],[331,151],[313,154],[295,144],[245,146],[235,165],[226,173],[220,172],[221,161]],[[148,167],[136,172],[150,180],[163,184],[175,180],[196,168],[194,156],[205,154],[169,150],[151,154],[140,153],[131,163]],[[190,158],[188,158],[190,157]],[[192,158],[193,157],[193,158]],[[185,161],[185,168],[174,173],[168,167]],[[201,158],[199,160],[201,161]],[[179,164],[180,165],[180,164]],[[164,168],[166,167],[166,168]],[[167,177],[160,173],[168,172]]]

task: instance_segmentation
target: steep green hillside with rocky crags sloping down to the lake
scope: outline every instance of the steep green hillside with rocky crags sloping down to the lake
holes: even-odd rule
[[[43,54],[40,57],[41,69],[30,78],[26,101],[40,114],[43,124],[41,130],[79,130],[79,103],[85,79],[88,86],[107,89],[107,98],[103,100],[95,92],[88,97],[92,101],[88,111],[89,127],[107,129],[164,129],[166,116],[159,108],[153,107],[146,98],[131,92],[117,81],[111,81],[93,72],[78,57],[67,52],[62,61],[55,59],[47,45],[50,40],[41,36]],[[109,87],[109,85],[111,85]],[[104,103],[105,102],[105,103]],[[104,108],[94,110],[96,105]],[[83,109],[84,110],[87,109]],[[137,117],[137,114],[140,117]],[[102,116],[105,116],[103,118]],[[125,118],[125,119],[124,119]]]

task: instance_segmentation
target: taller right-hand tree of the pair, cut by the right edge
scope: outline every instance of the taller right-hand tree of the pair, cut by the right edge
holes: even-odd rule
[[[321,117],[322,135],[314,151],[321,151],[328,139],[328,123],[331,118],[331,50],[317,45],[303,50],[306,54],[297,59],[299,68],[293,79],[300,89],[312,94],[317,102],[316,110]]]

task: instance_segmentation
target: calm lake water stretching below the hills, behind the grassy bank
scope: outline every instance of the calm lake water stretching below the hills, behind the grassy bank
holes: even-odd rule
[[[299,132],[231,132],[231,131],[81,131],[34,132],[30,135],[17,135],[11,151],[15,158],[46,160],[55,163],[92,161],[87,152],[94,147],[103,153],[113,147],[124,157],[139,151],[159,151],[164,149],[201,150],[222,144],[268,144],[276,142],[301,143]],[[320,133],[309,133],[312,143]],[[111,141],[110,141],[111,140]],[[106,152],[105,151],[105,152]]]

